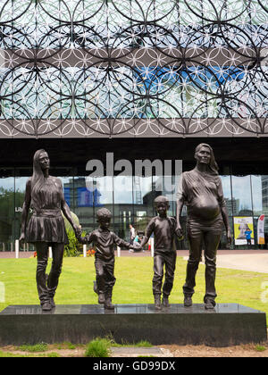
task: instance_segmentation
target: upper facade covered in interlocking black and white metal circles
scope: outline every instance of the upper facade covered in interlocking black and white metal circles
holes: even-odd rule
[[[0,137],[268,134],[268,0],[0,0]]]

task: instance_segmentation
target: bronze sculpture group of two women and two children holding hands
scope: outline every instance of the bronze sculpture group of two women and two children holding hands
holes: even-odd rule
[[[184,204],[188,209],[186,230],[189,244],[186,281],[183,286],[184,306],[192,305],[197,268],[202,246],[204,246],[204,303],[205,309],[214,309],[217,296],[215,291],[216,252],[223,225],[229,243],[231,242],[230,225],[222,193],[222,181],[211,146],[198,145],[195,159],[196,167],[192,171],[183,172],[180,178],[177,193],[177,220],[167,214],[168,199],[165,196],[157,196],[155,198],[157,215],[148,223],[145,237],[141,243],[131,245],[109,229],[112,213],[106,208],[101,208],[96,213],[99,227],[85,237],[81,237],[80,226],[74,223],[69,206],[64,200],[62,182],[49,175],[48,154],[45,150],[38,150],[33,158],[33,174],[26,184],[20,240],[33,243],[36,246],[38,256],[36,279],[42,310],[50,311],[55,306],[54,294],[62,271],[64,245],[68,243],[63,215],[71,223],[80,243],[91,243],[95,247],[96,283],[94,290],[98,295],[98,303],[104,304],[105,309],[108,310],[114,309],[112,304],[115,283],[114,246],[125,246],[129,249],[142,248],[154,234],[153,294],[155,309],[169,307],[177,254],[174,239],[183,235],[180,214]],[[33,214],[27,224],[30,207],[33,209]],[[48,246],[52,247],[53,262],[47,277]]]

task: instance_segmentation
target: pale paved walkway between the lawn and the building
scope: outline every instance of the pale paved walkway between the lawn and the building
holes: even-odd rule
[[[188,250],[178,250],[178,256],[188,259]],[[29,258],[33,252],[20,252],[20,258]],[[121,256],[151,256],[150,252],[121,251]],[[0,252],[0,258],[15,258],[14,252]],[[217,267],[268,273],[268,250],[218,250]]]

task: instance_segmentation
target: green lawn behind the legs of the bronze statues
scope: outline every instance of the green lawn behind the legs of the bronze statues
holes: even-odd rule
[[[51,262],[51,261],[50,261]],[[174,287],[170,301],[182,304],[182,285],[187,262],[177,259]],[[5,301],[0,311],[9,304],[38,304],[35,272],[37,259],[1,259],[0,282],[4,283]],[[50,264],[48,265],[49,271]],[[194,303],[203,303],[205,293],[205,266],[197,271]],[[121,257],[115,261],[116,283],[114,304],[153,304],[151,257]],[[64,258],[63,273],[55,296],[56,304],[97,304],[93,292],[95,279],[94,257]],[[266,291],[264,286],[266,283]],[[268,319],[268,273],[218,269],[216,277],[218,303],[238,303],[266,312]],[[266,297],[266,302],[262,295]],[[1,297],[1,295],[0,295]]]

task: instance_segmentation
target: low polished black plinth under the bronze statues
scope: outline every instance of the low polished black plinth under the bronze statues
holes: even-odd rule
[[[105,311],[99,304],[62,304],[51,312],[37,305],[11,305],[0,312],[0,345],[85,344],[112,335],[116,342],[147,340],[153,345],[230,346],[266,340],[264,312],[240,304],[203,304],[155,310],[154,304],[117,304]]]

